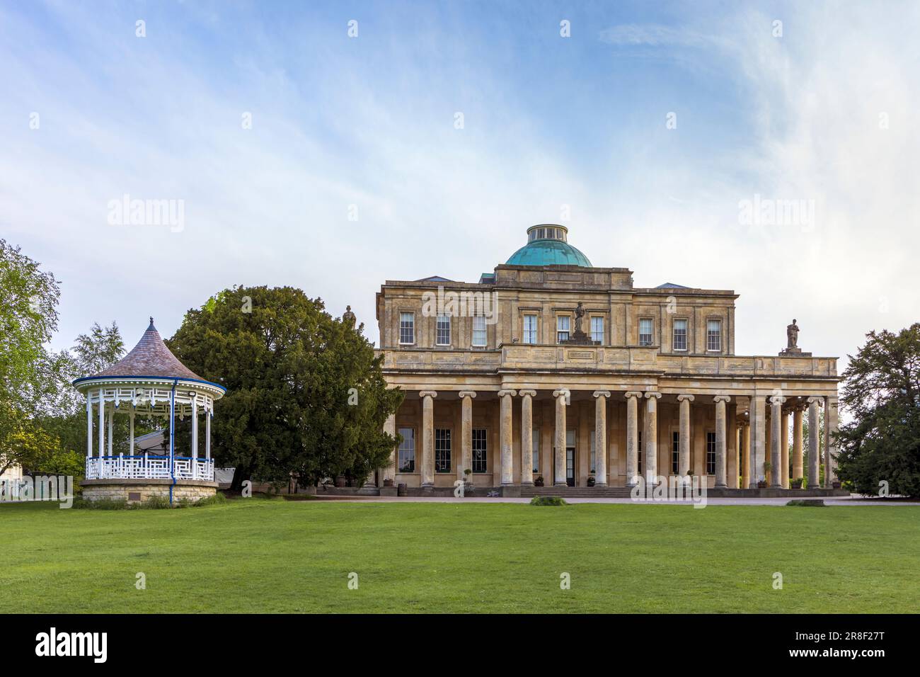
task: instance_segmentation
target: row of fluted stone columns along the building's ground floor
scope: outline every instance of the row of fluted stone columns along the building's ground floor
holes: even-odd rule
[[[459,391],[461,401],[461,429],[460,429],[460,462],[456,464],[457,479],[464,479],[464,470],[471,467],[472,457],[472,429],[473,429],[473,400],[476,391]],[[500,484],[533,484],[531,465],[531,443],[533,435],[533,402],[536,397],[535,390],[502,389],[497,392],[500,406]],[[559,387],[552,391],[555,399],[555,429],[554,429],[554,456],[553,468],[554,484],[566,485],[566,410],[570,404],[571,391]],[[618,396],[619,393],[616,393]],[[658,439],[658,401],[660,391],[625,391],[622,397],[626,400],[626,477],[627,486],[638,483],[639,455],[642,454],[642,479],[648,483],[656,483],[659,473],[659,439]],[[421,400],[421,430],[420,430],[420,480],[421,486],[434,485],[434,399],[437,391],[420,391]],[[607,405],[611,400],[611,391],[592,391],[594,398],[594,439],[598,453],[595,455],[595,485],[604,486],[608,481],[607,473]],[[807,482],[808,488],[818,488],[819,482],[819,417],[820,408],[825,408],[824,421],[824,450],[825,450],[825,476],[824,486],[830,487],[836,479],[836,461],[834,459],[833,434],[837,429],[837,399],[834,396],[813,396],[808,398],[795,398],[784,408],[788,399],[782,395],[741,395],[748,406],[748,419],[737,417],[730,421],[727,405],[732,402],[730,394],[700,394],[679,393],[679,432],[678,432],[678,474],[684,479],[690,474],[690,449],[691,449],[691,404],[715,405],[715,486],[717,488],[737,488],[741,477],[742,488],[758,488],[760,482],[765,482],[770,487],[788,488],[788,472],[781,472],[781,468],[789,467],[788,459],[788,414],[792,414],[793,421],[793,448],[792,448],[792,477],[804,477],[803,473],[803,414],[808,409],[808,460]],[[520,474],[514,476],[513,472],[513,432],[512,410],[515,398],[520,400],[521,406],[521,445],[520,445]],[[736,398],[737,399],[737,398]],[[804,403],[802,401],[805,401]],[[639,448],[638,408],[644,406],[642,447]],[[771,425],[766,427],[766,407],[770,407]],[[390,416],[385,424],[385,430],[391,435],[396,435],[396,417]],[[737,458],[728,457],[728,439],[730,430],[736,436],[733,445]],[[601,452],[601,450],[604,452]],[[394,479],[396,469],[396,452],[394,451],[390,466],[384,470],[384,479]],[[753,469],[753,472],[752,472]],[[729,477],[729,473],[731,477]]]

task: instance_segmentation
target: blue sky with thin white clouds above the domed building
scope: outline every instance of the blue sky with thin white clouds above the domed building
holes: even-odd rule
[[[736,290],[739,354],[795,317],[845,356],[917,319],[918,29],[896,2],[2,0],[0,237],[61,280],[56,347],[170,335],[234,284],[375,339],[385,279],[476,281],[563,222],[638,286]],[[126,193],[183,228],[109,225]],[[814,218],[752,227],[755,195]]]

